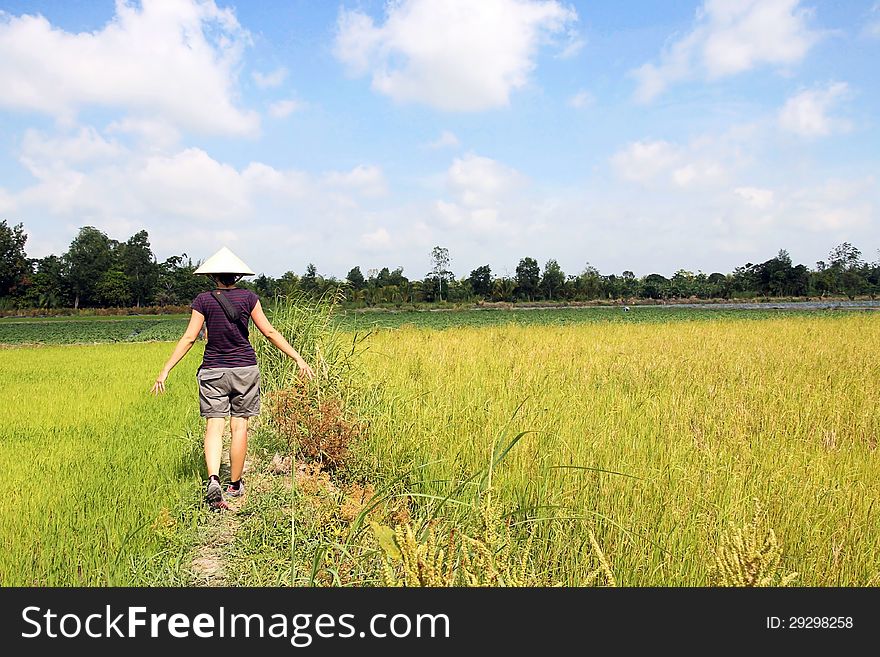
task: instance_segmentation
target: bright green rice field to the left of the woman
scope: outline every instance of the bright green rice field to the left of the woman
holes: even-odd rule
[[[196,358],[168,343],[0,350],[0,584],[180,581],[173,513],[200,490]]]

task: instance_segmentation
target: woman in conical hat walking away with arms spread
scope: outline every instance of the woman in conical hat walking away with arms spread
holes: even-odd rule
[[[260,372],[257,357],[248,340],[248,321],[253,320],[273,345],[296,361],[301,376],[312,378],[312,368],[302,359],[266,319],[260,299],[250,290],[235,287],[242,276],[254,272],[225,246],[196,269],[196,274],[213,278],[215,290],[202,292],[192,302],[192,316],[183,337],[177,343],[165,367],[156,377],[152,392],[165,392],[165,380],[174,366],[187,354],[202,326],[208,344],[197,378],[199,406],[205,427],[205,465],[208,484],[205,501],[215,510],[228,508],[220,486],[220,458],[223,452],[223,427],[229,417],[232,443],[229,447],[231,482],[228,495],[244,494],[242,471],[247,454],[248,418],[260,412]]]

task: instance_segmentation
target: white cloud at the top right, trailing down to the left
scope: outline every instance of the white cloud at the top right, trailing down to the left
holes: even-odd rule
[[[636,98],[647,102],[670,84],[695,77],[715,80],[761,65],[796,64],[819,40],[811,11],[800,0],[706,0],[695,26],[667,45],[659,61],[632,73]]]

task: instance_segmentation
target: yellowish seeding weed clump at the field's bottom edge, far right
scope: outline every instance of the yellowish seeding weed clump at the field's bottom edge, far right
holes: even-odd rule
[[[714,585],[788,586],[794,581],[797,573],[782,574],[782,548],[766,525],[767,514],[755,501],[752,521],[722,535],[711,575]]]

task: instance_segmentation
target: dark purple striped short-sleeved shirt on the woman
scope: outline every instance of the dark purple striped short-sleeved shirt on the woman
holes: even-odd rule
[[[205,327],[208,329],[208,344],[200,369],[257,364],[257,356],[248,340],[248,322],[260,298],[250,290],[240,288],[224,290],[223,294],[239,310],[236,322],[229,321],[220,302],[210,292],[202,292],[190,306],[205,316]]]

